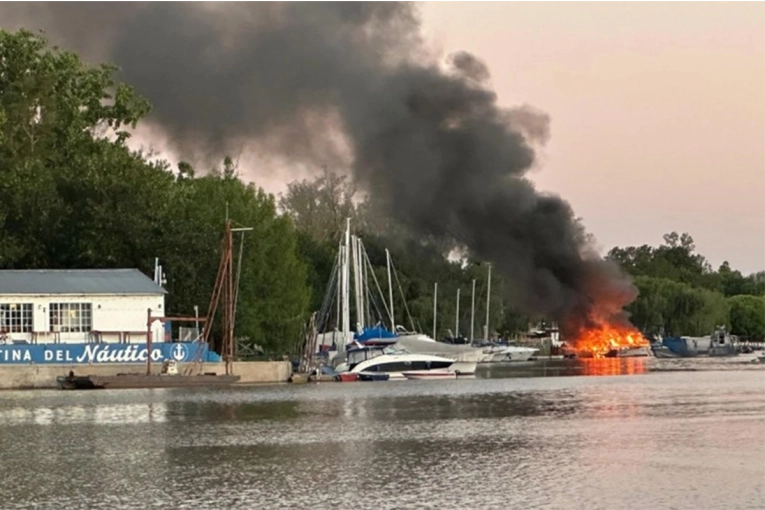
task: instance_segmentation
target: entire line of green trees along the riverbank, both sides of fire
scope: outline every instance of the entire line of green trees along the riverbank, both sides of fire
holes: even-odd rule
[[[386,296],[385,249],[391,252],[397,323],[433,334],[437,282],[436,335],[470,336],[475,280],[475,336],[483,336],[485,264],[414,236],[381,214],[373,196],[327,170],[275,197],[243,181],[230,158],[211,169],[173,168],[131,150],[130,133],[151,107],[116,72],[88,66],[40,34],[0,31],[0,267],[151,274],[159,257],[169,311],[190,314],[209,302],[230,217],[254,229],[235,237],[242,257],[236,335],[288,352],[324,300],[351,218]],[[659,247],[611,250],[641,292],[630,307],[634,323],[682,334],[726,323],[741,336],[765,336],[765,272],[743,276],[727,264],[713,271],[694,250],[690,236],[677,234]],[[490,307],[490,329],[505,335],[544,319],[514,310],[496,273]]]

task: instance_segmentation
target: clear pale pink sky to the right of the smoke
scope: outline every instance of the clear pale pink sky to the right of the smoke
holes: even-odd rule
[[[689,232],[716,268],[765,269],[765,2],[428,1],[426,34],[547,112],[532,179],[604,251]]]

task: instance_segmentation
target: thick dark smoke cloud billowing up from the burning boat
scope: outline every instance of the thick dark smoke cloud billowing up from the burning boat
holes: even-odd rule
[[[184,155],[255,144],[332,162],[341,131],[356,179],[392,214],[493,262],[517,304],[569,329],[634,297],[568,203],[525,178],[548,117],[498,106],[468,53],[443,69],[410,2],[0,4],[0,19],[107,55]]]

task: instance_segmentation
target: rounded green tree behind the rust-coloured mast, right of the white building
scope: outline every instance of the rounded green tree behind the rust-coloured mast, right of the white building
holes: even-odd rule
[[[165,251],[172,306],[206,307],[228,215],[235,227],[253,228],[235,233],[235,264],[242,254],[235,334],[271,352],[291,348],[307,318],[310,289],[297,232],[288,217],[277,214],[274,197],[243,183],[227,158],[222,169],[206,176],[179,176],[172,211],[167,231],[172,243]]]

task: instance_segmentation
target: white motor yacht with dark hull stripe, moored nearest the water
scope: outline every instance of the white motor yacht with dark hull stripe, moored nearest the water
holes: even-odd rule
[[[431,370],[473,375],[476,368],[476,363],[430,354],[413,354],[393,346],[351,348],[346,352],[346,359],[346,363],[339,365],[336,371],[388,374],[390,379],[406,379],[404,372],[421,373]]]

